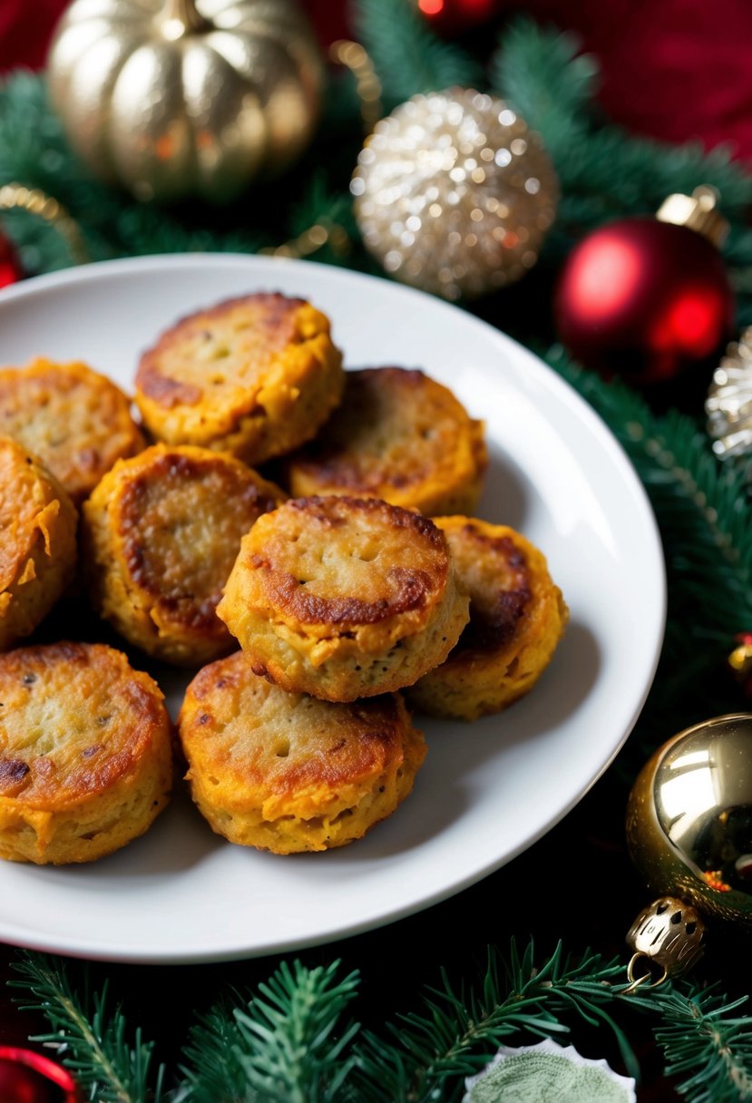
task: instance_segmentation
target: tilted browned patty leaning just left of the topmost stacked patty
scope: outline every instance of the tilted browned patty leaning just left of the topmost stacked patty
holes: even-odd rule
[[[84,505],[92,598],[146,652],[198,666],[233,639],[215,609],[254,522],[284,494],[232,456],[154,445],[121,461]]]

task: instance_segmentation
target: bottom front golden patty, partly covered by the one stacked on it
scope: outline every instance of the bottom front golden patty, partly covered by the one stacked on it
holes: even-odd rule
[[[243,652],[196,675],[179,731],[213,829],[276,854],[361,838],[408,795],[426,754],[398,694],[352,705],[289,694]]]

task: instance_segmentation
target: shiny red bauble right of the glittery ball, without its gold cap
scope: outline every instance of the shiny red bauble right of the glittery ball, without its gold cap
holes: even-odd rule
[[[555,293],[559,340],[586,367],[657,383],[720,352],[734,301],[721,255],[701,234],[623,218],[570,253]]]

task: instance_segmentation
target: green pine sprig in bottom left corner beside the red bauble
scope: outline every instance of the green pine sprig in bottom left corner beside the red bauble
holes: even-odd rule
[[[83,994],[74,990],[65,966],[43,954],[24,954],[14,968],[21,979],[9,984],[29,994],[20,1002],[21,1009],[41,1011],[52,1027],[50,1034],[31,1040],[53,1046],[90,1100],[160,1103],[164,1099],[163,1065],[151,1073],[153,1042],[144,1042],[137,1029],[129,1043],[121,1008],[107,1008],[106,984],[90,999],[87,984]]]

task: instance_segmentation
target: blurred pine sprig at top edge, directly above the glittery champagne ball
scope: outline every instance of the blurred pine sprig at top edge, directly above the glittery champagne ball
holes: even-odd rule
[[[481,67],[459,46],[438,39],[405,0],[355,0],[353,25],[394,106],[419,92],[477,87]]]

